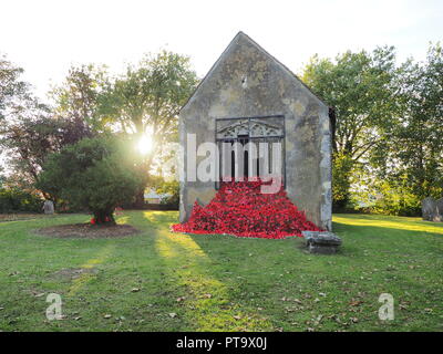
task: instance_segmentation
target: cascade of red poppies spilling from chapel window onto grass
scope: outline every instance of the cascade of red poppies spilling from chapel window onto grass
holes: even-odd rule
[[[260,179],[223,183],[206,206],[196,201],[187,222],[172,226],[176,232],[229,233],[239,237],[281,239],[301,237],[301,231],[320,231],[306,219],[280,188],[275,194],[261,192]]]

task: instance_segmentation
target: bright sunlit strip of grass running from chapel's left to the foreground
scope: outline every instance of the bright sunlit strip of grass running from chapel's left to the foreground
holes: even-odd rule
[[[239,303],[229,279],[220,279],[210,257],[188,235],[164,232],[157,251],[174,283],[184,287],[184,317],[195,331],[271,330],[256,309]]]

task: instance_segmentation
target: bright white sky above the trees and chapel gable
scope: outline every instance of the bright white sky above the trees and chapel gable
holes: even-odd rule
[[[1,0],[0,52],[25,70],[44,98],[71,64],[121,72],[165,48],[192,56],[203,76],[238,31],[295,72],[315,53],[395,45],[425,58],[443,40],[441,0]]]

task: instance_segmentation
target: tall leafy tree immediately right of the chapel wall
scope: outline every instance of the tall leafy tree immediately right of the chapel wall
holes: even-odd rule
[[[337,208],[344,208],[350,200],[353,169],[368,163],[395,125],[398,74],[392,46],[372,53],[348,51],[334,61],[315,55],[305,67],[303,81],[336,110],[332,149]]]

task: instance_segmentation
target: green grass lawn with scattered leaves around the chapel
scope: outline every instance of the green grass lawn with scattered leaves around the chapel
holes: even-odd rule
[[[133,237],[33,233],[89,219],[0,222],[0,330],[443,330],[443,223],[336,215],[336,256],[309,254],[299,238],[171,233],[174,211],[125,211]],[[63,320],[45,319],[49,293]],[[393,321],[378,317],[381,293],[394,296]]]

